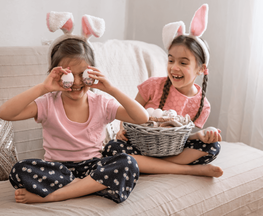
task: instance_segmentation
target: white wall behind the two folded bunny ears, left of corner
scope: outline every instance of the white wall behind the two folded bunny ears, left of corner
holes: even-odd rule
[[[50,11],[71,12],[75,21],[73,34],[80,34],[84,14],[103,18],[104,35],[90,41],[124,39],[126,0],[9,0],[1,1],[0,46],[40,46],[42,38],[51,40],[62,35],[61,30],[48,30],[46,14]]]

